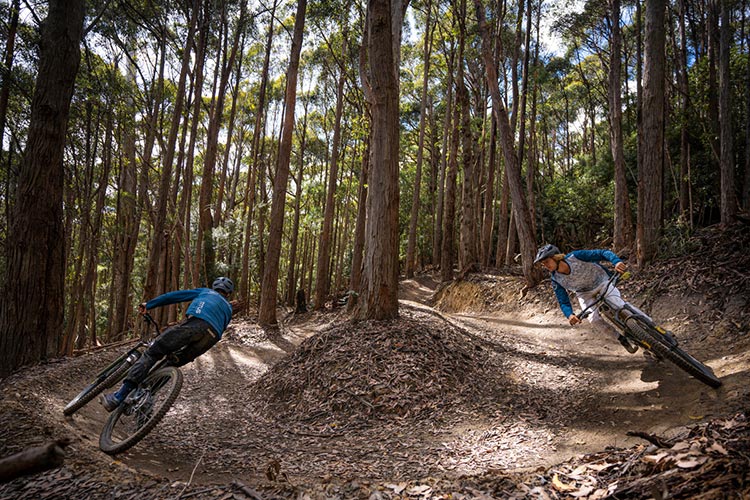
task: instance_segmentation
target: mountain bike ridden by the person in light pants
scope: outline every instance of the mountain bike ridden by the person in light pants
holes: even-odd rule
[[[627,272],[622,275],[614,273],[595,295],[594,302],[577,316],[583,320],[598,310],[601,316],[632,345],[648,351],[658,360],[669,360],[681,370],[714,389],[720,387],[721,380],[713,370],[681,349],[672,332],[655,324],[651,318],[642,314],[628,302],[625,302],[622,307],[617,307],[607,300],[609,290],[614,288],[620,279],[627,279],[629,276],[630,273]],[[635,352],[635,349],[632,352]]]

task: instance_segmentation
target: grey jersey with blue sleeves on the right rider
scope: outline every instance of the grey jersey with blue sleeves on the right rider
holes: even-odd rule
[[[570,274],[552,272],[552,290],[566,318],[573,314],[568,290],[589,292],[609,279],[609,273],[599,264],[604,260],[612,265],[622,261],[610,250],[574,250],[565,256]]]

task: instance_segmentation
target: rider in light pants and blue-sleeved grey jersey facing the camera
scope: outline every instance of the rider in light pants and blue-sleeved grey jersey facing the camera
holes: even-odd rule
[[[574,250],[563,254],[555,245],[547,244],[537,251],[534,264],[541,263],[550,272],[552,289],[557,302],[571,325],[580,323],[581,319],[573,313],[568,291],[575,292],[582,310],[591,305],[596,300],[601,287],[607,284],[610,277],[607,270],[599,264],[602,261],[612,263],[618,273],[623,273],[627,269],[622,259],[610,250]],[[625,305],[620,291],[614,286],[609,287],[606,298],[607,302],[617,308]],[[637,308],[634,309],[643,314]],[[638,350],[638,346],[630,343],[624,335],[603,321],[599,311],[594,310],[589,316],[589,321],[595,330],[614,333],[628,352],[634,353]]]

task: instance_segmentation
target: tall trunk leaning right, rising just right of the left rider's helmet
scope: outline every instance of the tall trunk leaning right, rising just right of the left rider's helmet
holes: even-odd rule
[[[281,236],[284,228],[284,207],[286,205],[286,188],[289,180],[289,162],[292,155],[292,134],[294,132],[294,107],[297,100],[297,74],[299,72],[306,8],[307,0],[297,2],[292,51],[286,79],[284,123],[282,125],[276,176],[273,182],[273,204],[271,206],[268,252],[266,253],[266,264],[263,271],[260,294],[260,308],[258,309],[258,323],[265,326],[276,324],[276,293],[279,288]]]

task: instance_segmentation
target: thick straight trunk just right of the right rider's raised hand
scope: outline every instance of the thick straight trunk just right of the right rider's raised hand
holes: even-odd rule
[[[662,229],[664,172],[664,30],[665,0],[647,0],[642,162],[638,181],[638,265],[643,267],[658,251]]]

